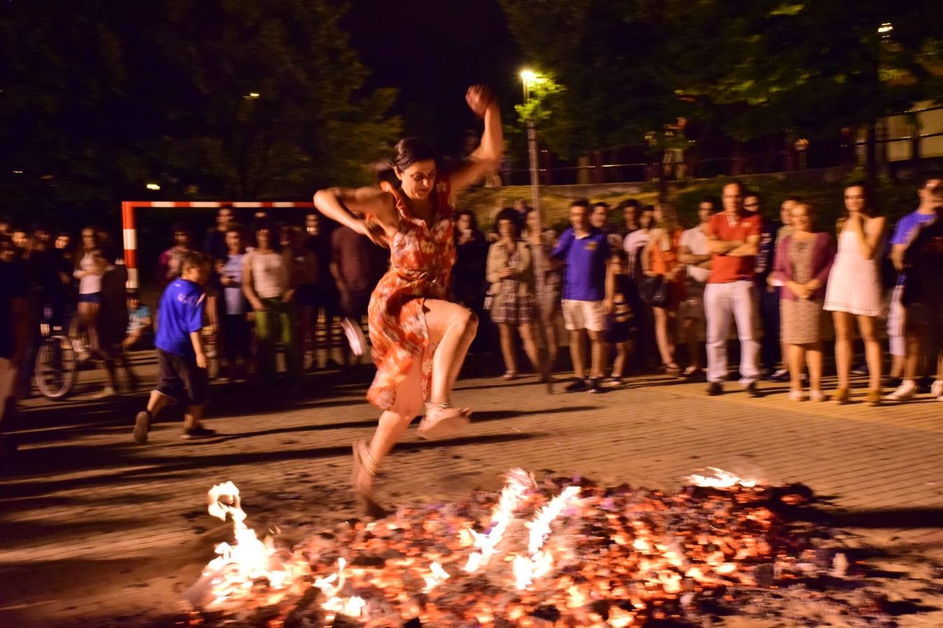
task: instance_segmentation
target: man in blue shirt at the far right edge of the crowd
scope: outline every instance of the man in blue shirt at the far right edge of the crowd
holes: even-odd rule
[[[894,228],[894,234],[890,239],[890,259],[894,267],[898,270],[897,285],[894,286],[894,292],[890,298],[890,312],[887,314],[887,338],[890,341],[891,353],[891,377],[903,378],[895,390],[887,398],[891,401],[907,401],[917,393],[917,381],[913,374],[917,371],[920,356],[915,354],[912,345],[908,348],[905,340],[906,307],[902,302],[906,276],[903,272],[903,251],[911,240],[911,236],[924,222],[929,222],[936,217],[936,202],[932,193],[938,185],[943,184],[943,175],[928,174],[923,177],[923,185],[920,186],[918,196],[920,204],[916,211],[907,214],[897,221]],[[913,362],[910,367],[907,362]],[[908,377],[907,374],[910,374]]]

